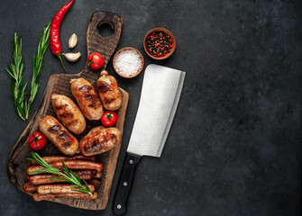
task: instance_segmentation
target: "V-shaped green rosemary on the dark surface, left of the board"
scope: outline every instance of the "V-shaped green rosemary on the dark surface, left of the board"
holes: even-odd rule
[[[32,55],[32,85],[30,88],[30,97],[26,100],[26,89],[27,83],[24,84],[24,61],[22,57],[22,36],[18,36],[14,33],[13,39],[13,58],[14,63],[10,62],[6,71],[13,77],[11,83],[11,91],[14,97],[14,109],[18,115],[26,121],[32,110],[32,104],[38,93],[38,89],[41,84],[39,84],[39,79],[41,76],[41,69],[43,67],[43,59],[45,52],[50,46],[50,24],[44,27],[43,33],[40,36],[40,41],[38,45],[37,55],[33,53]]]

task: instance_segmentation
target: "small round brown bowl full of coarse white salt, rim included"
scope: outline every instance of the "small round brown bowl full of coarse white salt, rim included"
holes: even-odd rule
[[[118,50],[113,60],[114,70],[119,76],[133,78],[142,72],[142,53],[134,48],[125,47]]]

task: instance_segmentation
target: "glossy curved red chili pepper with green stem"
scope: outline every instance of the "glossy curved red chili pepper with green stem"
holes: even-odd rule
[[[59,9],[59,12],[53,17],[51,26],[50,26],[50,49],[52,54],[56,55],[59,58],[60,63],[63,66],[63,69],[65,73],[67,73],[62,58],[62,48],[60,46],[59,42],[59,27],[60,23],[62,22],[62,19],[64,18],[65,14],[69,11],[69,8],[71,5],[75,2],[75,0],[70,1],[68,4],[65,4],[62,6],[61,9]]]

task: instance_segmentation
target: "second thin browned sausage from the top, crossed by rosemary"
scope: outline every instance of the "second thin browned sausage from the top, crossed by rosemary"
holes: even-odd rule
[[[103,171],[102,164],[92,162],[92,161],[70,160],[70,161],[64,162],[64,164],[71,170],[96,169],[97,173],[100,173]],[[49,165],[54,166],[59,169],[63,168],[62,162],[60,162],[60,161],[49,163]],[[27,174],[29,175],[30,173],[41,170],[41,169],[43,169],[43,166],[38,166],[38,165],[30,166],[27,169]]]

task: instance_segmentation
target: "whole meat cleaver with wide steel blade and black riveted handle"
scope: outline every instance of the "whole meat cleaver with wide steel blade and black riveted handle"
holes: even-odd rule
[[[186,72],[151,64],[145,69],[142,94],[117,185],[113,211],[127,211],[135,166],[142,156],[160,157],[176,112]]]

